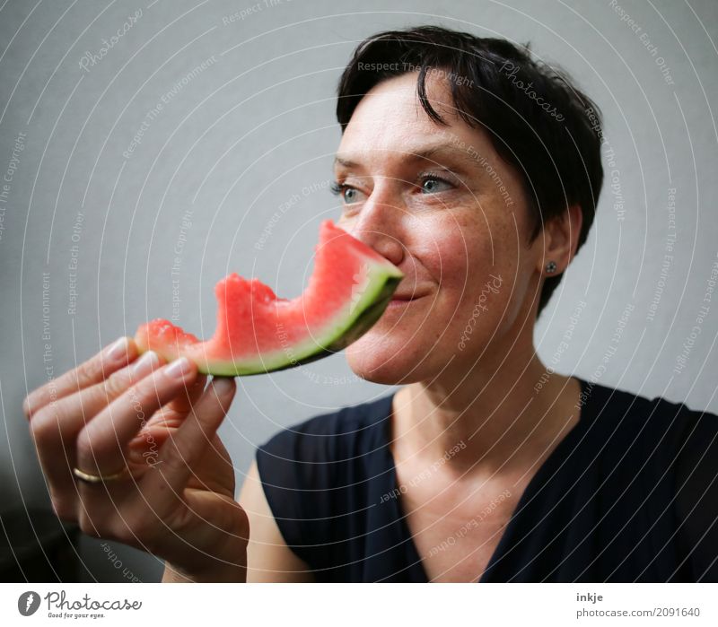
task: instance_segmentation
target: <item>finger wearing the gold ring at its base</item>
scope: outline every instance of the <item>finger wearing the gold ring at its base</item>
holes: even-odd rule
[[[92,475],[111,475],[127,463],[127,445],[165,403],[187,394],[197,379],[197,366],[186,357],[155,370],[128,388],[77,438],[77,466]]]

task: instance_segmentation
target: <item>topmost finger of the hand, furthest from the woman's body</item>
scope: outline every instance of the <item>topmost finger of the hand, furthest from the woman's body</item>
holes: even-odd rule
[[[32,391],[22,402],[23,413],[30,419],[42,407],[99,383],[112,372],[134,361],[137,353],[137,346],[131,337],[120,337],[77,368],[68,370],[57,379],[52,379]]]

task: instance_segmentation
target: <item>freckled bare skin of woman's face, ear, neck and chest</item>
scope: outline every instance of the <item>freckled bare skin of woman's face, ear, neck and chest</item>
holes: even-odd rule
[[[404,272],[398,294],[426,294],[387,309],[346,359],[364,379],[402,386],[390,450],[428,579],[476,581],[530,478],[578,420],[578,381],[554,374],[534,390],[546,367],[533,328],[544,267],[568,266],[581,211],[570,207],[529,246],[519,175],[484,130],[452,115],[444,83],[430,76],[427,91],[449,126],[428,118],[416,74],[403,74],[360,101],[337,150],[339,225]],[[449,148],[417,161],[427,144]],[[494,276],[498,287],[488,289]],[[451,460],[412,483],[458,443]],[[510,498],[496,505],[505,491]],[[490,507],[454,546],[435,551]]]

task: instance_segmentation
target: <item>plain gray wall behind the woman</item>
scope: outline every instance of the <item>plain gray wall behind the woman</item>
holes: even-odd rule
[[[102,39],[140,11],[101,56]],[[231,271],[301,292],[318,224],[338,215],[326,188],[337,77],[358,40],[425,22],[530,39],[605,113],[608,180],[538,324],[547,364],[718,413],[718,295],[704,302],[718,225],[714,0],[10,0],[0,11],[0,176],[11,170],[0,181],[4,506],[47,506],[20,405],[49,374],[148,318],[174,313],[209,335],[212,287]],[[387,392],[355,379],[342,355],[240,379],[222,427],[238,482],[280,427]],[[159,562],[115,549],[123,568],[83,541],[93,577],[159,577]]]

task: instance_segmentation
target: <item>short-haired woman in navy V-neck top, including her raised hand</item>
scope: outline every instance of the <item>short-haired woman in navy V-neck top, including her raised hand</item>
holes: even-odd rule
[[[278,433],[238,504],[232,380],[120,339],[26,399],[57,514],[165,581],[718,579],[716,417],[533,348],[600,192],[591,100],[507,41],[423,27],[356,49],[337,118],[338,223],[406,274],[346,357],[404,387]]]

